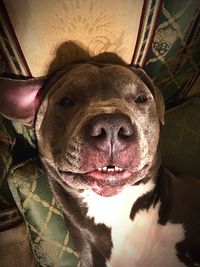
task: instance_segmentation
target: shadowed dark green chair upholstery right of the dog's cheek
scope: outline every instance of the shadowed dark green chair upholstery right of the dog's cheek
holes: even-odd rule
[[[166,113],[161,140],[164,166],[200,178],[200,96]]]

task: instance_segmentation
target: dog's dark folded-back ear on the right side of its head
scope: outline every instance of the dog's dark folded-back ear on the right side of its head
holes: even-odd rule
[[[131,66],[133,72],[146,84],[149,90],[152,92],[155,102],[158,118],[162,124],[164,124],[165,103],[160,90],[154,85],[151,78],[140,67]]]

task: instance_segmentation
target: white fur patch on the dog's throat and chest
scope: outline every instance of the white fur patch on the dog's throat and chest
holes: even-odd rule
[[[184,239],[181,224],[158,224],[160,203],[149,210],[140,210],[134,220],[130,212],[138,197],[154,187],[150,181],[124,189],[113,197],[101,197],[87,191],[82,197],[88,206],[87,216],[94,222],[104,223],[111,228],[112,254],[108,266],[111,267],[182,267],[176,256],[176,243]]]

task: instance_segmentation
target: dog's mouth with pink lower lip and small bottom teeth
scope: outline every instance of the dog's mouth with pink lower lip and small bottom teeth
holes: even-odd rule
[[[96,194],[110,197],[117,195],[125,186],[134,184],[138,180],[138,173],[142,177],[146,168],[147,166],[145,165],[140,170],[131,171],[126,168],[108,165],[82,174],[61,170],[59,173],[66,183],[68,183],[69,177],[76,177],[73,181],[74,184],[80,182],[86,185],[87,188],[92,189]]]

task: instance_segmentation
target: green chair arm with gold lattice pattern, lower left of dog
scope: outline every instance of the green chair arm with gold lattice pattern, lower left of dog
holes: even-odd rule
[[[9,184],[21,214],[37,266],[81,266],[78,254],[36,159],[16,165]]]

